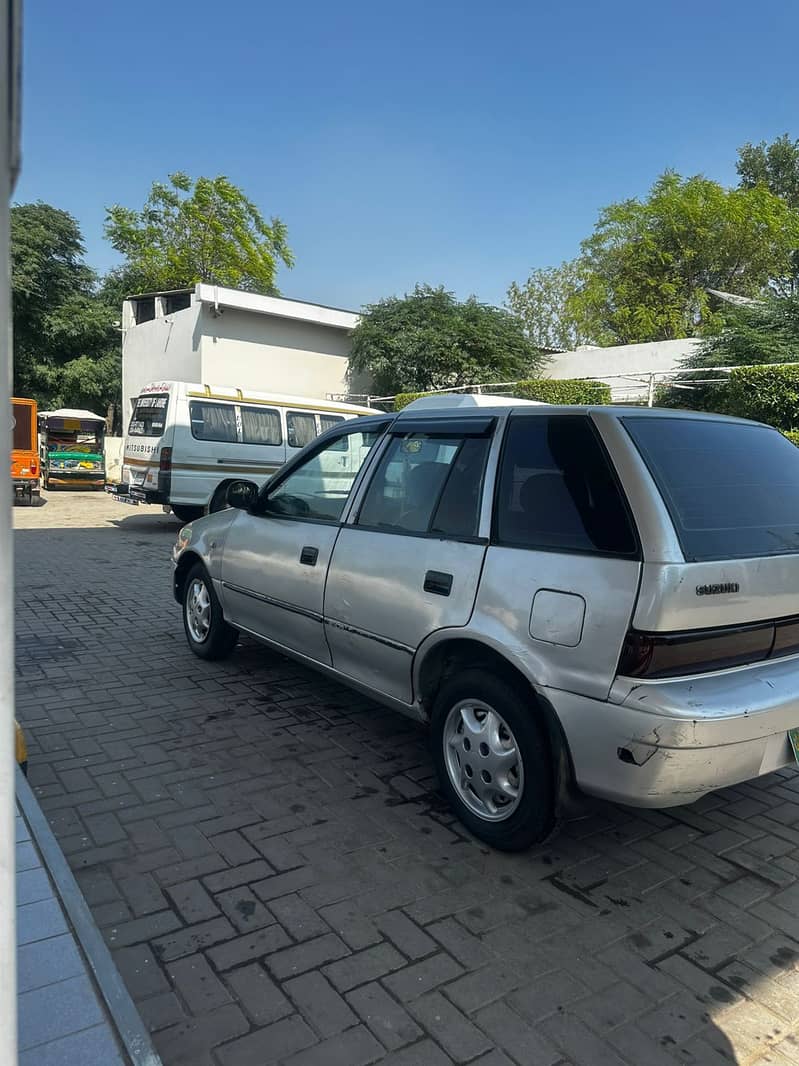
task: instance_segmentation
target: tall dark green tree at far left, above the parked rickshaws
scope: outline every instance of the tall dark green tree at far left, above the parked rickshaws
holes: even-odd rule
[[[80,227],[49,204],[11,209],[14,391],[104,414],[119,390],[118,310],[99,294]]]

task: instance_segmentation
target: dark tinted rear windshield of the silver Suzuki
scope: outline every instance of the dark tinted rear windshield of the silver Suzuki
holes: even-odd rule
[[[686,560],[799,552],[799,448],[777,430],[625,418]]]

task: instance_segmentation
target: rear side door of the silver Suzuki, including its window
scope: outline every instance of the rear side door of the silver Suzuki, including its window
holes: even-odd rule
[[[472,615],[493,426],[492,418],[396,423],[336,544],[325,594],[333,666],[404,702],[422,641]]]

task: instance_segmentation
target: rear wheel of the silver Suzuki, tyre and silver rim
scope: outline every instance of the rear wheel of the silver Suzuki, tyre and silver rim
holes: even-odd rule
[[[519,852],[549,836],[554,768],[532,695],[485,671],[463,671],[439,692],[430,741],[441,790],[475,837]]]

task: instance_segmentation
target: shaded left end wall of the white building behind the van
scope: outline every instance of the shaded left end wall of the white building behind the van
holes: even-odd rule
[[[201,381],[197,321],[200,306],[193,304],[166,318],[135,325],[126,314],[123,340],[123,432],[127,430],[134,400],[148,382]]]

